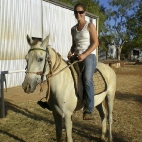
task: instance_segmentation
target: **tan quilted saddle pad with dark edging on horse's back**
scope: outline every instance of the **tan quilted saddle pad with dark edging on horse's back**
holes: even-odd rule
[[[70,62],[67,62],[67,63],[71,64]],[[79,63],[76,63],[70,67],[72,77],[74,79],[74,87],[76,90],[76,94],[78,94],[78,78],[82,69],[83,67],[81,67]],[[99,95],[100,93],[106,91],[107,89],[106,81],[103,75],[101,74],[101,72],[97,68],[93,76],[93,81],[94,81],[94,95]]]

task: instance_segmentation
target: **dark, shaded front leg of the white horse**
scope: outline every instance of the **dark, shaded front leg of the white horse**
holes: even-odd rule
[[[56,139],[57,142],[62,141],[62,117],[61,115],[53,112],[53,117],[55,121],[55,127],[56,127]]]

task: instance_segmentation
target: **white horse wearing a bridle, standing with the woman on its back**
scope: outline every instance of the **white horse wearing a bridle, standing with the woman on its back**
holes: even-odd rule
[[[37,42],[32,40],[27,35],[27,41],[31,46],[28,54],[26,55],[27,60],[27,73],[22,87],[26,93],[32,93],[36,89],[37,84],[41,82],[41,76],[43,75],[43,68],[45,68],[44,75],[51,73],[58,73],[52,76],[50,81],[50,97],[48,105],[50,106],[55,125],[56,125],[56,138],[57,142],[61,142],[62,137],[62,118],[65,120],[66,127],[66,140],[72,142],[72,120],[71,116],[75,110],[83,108],[83,103],[76,108],[78,98],[74,88],[74,80],[69,68],[61,71],[67,66],[64,60],[59,60],[59,54],[57,54],[48,45],[49,36],[47,36],[43,42]],[[47,51],[47,52],[46,52]],[[45,62],[47,61],[47,63]],[[51,64],[52,63],[52,64]],[[54,68],[54,69],[53,69]],[[107,90],[94,97],[95,106],[99,111],[102,120],[102,134],[101,140],[105,140],[106,134],[106,119],[107,115],[103,101],[106,100],[108,106],[108,123],[109,123],[109,136],[108,141],[112,141],[112,111],[113,102],[116,91],[116,75],[113,69],[103,63],[98,63],[97,68],[104,76],[107,83]],[[53,71],[54,70],[54,71]],[[52,72],[53,71],[53,72]]]

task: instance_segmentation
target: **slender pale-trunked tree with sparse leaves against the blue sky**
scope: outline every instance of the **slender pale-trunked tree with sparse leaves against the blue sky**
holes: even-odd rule
[[[127,32],[127,17],[136,9],[139,0],[117,1],[109,0],[110,8],[106,10],[107,21],[105,22],[105,35],[113,35],[118,46],[118,60],[120,60],[121,50],[125,43],[130,40]]]

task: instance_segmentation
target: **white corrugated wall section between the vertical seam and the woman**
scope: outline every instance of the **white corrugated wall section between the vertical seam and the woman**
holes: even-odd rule
[[[86,16],[86,20],[90,18]],[[96,19],[92,19],[96,25]],[[58,51],[63,58],[72,44],[71,27],[77,23],[74,12],[51,3],[43,2],[43,38],[50,33],[50,45]]]

